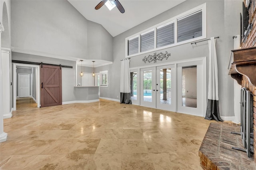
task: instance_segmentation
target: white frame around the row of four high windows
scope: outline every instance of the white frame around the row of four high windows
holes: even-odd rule
[[[200,37],[196,37],[196,38],[192,38],[192,39],[189,39],[189,40],[185,40],[185,41],[182,41],[182,42],[178,42],[178,27],[177,27],[177,22],[178,22],[178,19],[181,19],[181,18],[185,18],[193,13],[196,13],[198,11],[202,10],[202,36]],[[170,45],[166,45],[166,46],[163,46],[163,47],[156,47],[156,43],[157,43],[157,39],[156,39],[156,32],[157,32],[157,28],[165,25],[165,24],[171,24],[171,23],[174,23],[174,43],[173,44],[170,44]],[[140,35],[141,34],[144,34],[146,32],[149,32],[150,30],[154,30],[154,49],[150,49],[148,51],[143,51],[141,52],[141,47],[140,47],[140,44],[141,44],[141,40],[140,40]],[[137,37],[139,38],[139,42],[138,42],[138,53],[136,54],[132,54],[132,55],[128,55],[128,40],[132,39],[132,38],[135,38]],[[133,34],[132,36],[129,36],[125,39],[125,57],[134,57],[136,55],[141,55],[141,54],[144,54],[144,53],[149,53],[149,52],[153,52],[153,51],[156,51],[156,50],[161,50],[161,49],[166,49],[166,48],[169,48],[169,47],[174,47],[174,46],[177,46],[177,45],[182,45],[182,44],[185,44],[185,43],[190,43],[190,42],[194,42],[194,41],[198,41],[198,40],[202,40],[202,39],[205,39],[206,38],[206,3],[204,4],[201,4],[200,6],[197,6],[195,8],[192,8],[186,12],[183,12],[182,14],[179,14],[177,16],[174,16],[168,20],[165,20],[159,24],[156,24],[150,28],[147,28],[145,30],[142,30],[141,32],[138,32],[136,34]]]

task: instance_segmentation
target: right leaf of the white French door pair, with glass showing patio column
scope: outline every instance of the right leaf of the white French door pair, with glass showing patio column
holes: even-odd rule
[[[156,67],[156,108],[176,110],[175,65]]]

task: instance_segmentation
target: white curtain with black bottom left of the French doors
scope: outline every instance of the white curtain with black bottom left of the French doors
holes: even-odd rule
[[[130,59],[121,61],[120,103],[132,104],[130,89]]]

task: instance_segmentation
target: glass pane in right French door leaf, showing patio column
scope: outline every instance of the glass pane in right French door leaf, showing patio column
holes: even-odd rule
[[[160,103],[171,104],[171,69],[160,69]]]

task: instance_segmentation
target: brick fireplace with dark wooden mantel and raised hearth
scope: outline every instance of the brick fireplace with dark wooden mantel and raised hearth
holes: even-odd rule
[[[244,4],[246,4],[244,0]],[[240,125],[233,123],[211,123],[199,150],[200,163],[205,170],[256,169],[256,0],[251,0],[248,8],[248,32],[242,38],[241,49],[233,51],[233,63],[229,74],[238,84],[249,90],[253,96],[253,146],[254,156],[232,150],[231,146],[243,148]],[[213,136],[213,137],[212,137]],[[212,139],[211,139],[212,138]]]

